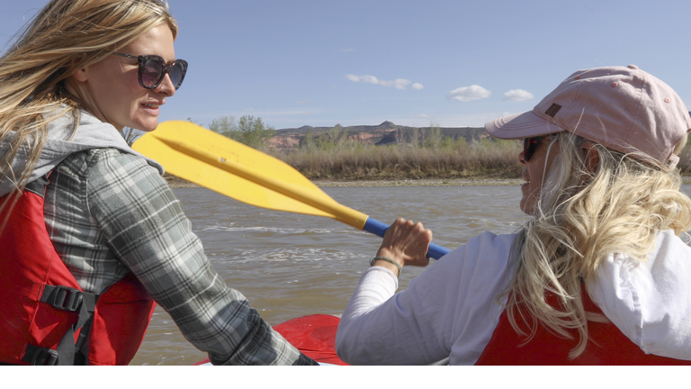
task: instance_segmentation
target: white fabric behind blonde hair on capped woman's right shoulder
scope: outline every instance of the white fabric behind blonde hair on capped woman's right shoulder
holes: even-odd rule
[[[646,354],[691,360],[691,248],[663,231],[644,263],[610,255],[588,291]]]

